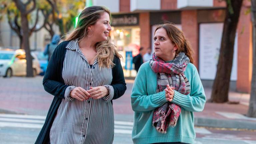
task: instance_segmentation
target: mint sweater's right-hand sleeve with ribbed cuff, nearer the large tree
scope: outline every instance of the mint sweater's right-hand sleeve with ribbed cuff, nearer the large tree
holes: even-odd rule
[[[172,102],[183,107],[187,111],[200,112],[204,109],[206,96],[196,68],[194,70],[194,77],[193,80],[191,80],[190,85],[190,95],[184,95],[179,93],[178,91],[174,91],[174,97]]]

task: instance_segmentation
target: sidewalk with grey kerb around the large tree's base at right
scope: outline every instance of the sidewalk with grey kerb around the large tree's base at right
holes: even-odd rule
[[[205,88],[207,100],[211,89]],[[229,92],[229,101],[239,104],[206,103],[202,112],[195,112],[195,125],[238,129],[256,129],[256,118],[245,115],[248,111],[250,94]]]

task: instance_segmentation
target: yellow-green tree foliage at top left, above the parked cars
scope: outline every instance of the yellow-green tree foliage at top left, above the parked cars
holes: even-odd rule
[[[60,27],[61,35],[65,34],[69,30],[74,28],[75,25],[75,17],[81,12],[81,10],[85,7],[85,0],[50,0],[55,6],[56,9],[52,7],[52,5],[47,0],[36,0],[36,9],[42,10],[42,12],[46,15],[48,13],[52,13],[49,15],[47,21],[49,23],[55,23]],[[33,2],[31,2],[27,9],[30,9],[33,6]],[[9,11],[9,13],[7,13]],[[7,15],[10,21],[14,21],[15,17],[18,17],[18,24],[21,24],[20,12],[17,9],[15,3],[11,0],[0,0],[0,20],[1,17]],[[36,10],[32,13],[28,14],[28,20],[30,24],[33,24],[35,20]]]

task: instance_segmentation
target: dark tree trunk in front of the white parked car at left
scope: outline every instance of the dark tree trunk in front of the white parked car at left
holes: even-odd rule
[[[33,77],[33,67],[32,67],[32,56],[30,54],[29,47],[29,28],[28,28],[28,19],[26,14],[21,14],[21,28],[23,31],[23,47],[26,52],[27,60],[27,77]]]

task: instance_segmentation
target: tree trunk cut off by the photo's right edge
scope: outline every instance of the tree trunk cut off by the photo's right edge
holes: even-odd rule
[[[256,118],[256,0],[251,0],[251,16],[253,23],[253,70],[251,81],[251,97],[247,116]]]

